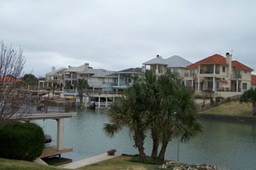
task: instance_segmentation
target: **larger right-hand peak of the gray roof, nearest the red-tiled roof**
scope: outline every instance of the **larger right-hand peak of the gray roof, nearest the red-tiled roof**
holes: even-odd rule
[[[166,59],[166,64],[167,67],[186,67],[192,63],[178,55],[173,55],[172,57]]]

